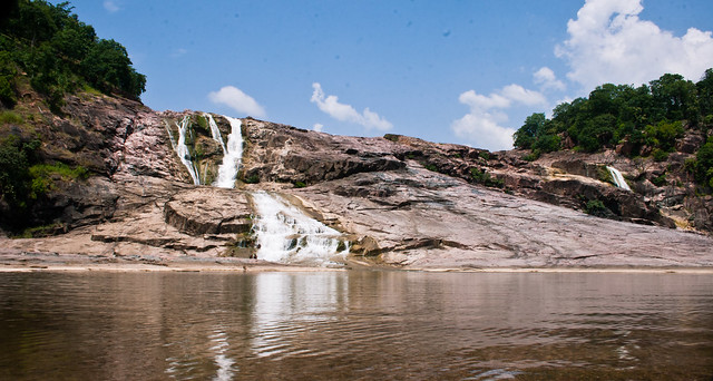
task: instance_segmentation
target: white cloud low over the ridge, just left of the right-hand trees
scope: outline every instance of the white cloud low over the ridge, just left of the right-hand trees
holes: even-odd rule
[[[528,90],[519,85],[508,85],[488,96],[468,90],[458,100],[470,107],[462,118],[451,124],[451,129],[459,138],[472,143],[476,147],[490,150],[512,148],[514,128],[504,127],[508,116],[502,109],[515,104],[525,106],[545,106],[547,99],[538,91]]]

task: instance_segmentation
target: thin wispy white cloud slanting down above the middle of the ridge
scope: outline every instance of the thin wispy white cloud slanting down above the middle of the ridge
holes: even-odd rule
[[[354,123],[367,127],[367,129],[377,128],[387,130],[393,127],[389,120],[380,117],[369,108],[364,108],[364,111],[359,114],[352,106],[340,104],[336,96],[325,96],[322,86],[318,82],[312,84],[312,88],[314,91],[312,92],[310,101],[316,104],[320,110],[336,120]]]

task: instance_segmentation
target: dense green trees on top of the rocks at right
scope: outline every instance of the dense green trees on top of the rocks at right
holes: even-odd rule
[[[574,148],[594,153],[623,144],[622,154],[652,156],[661,162],[675,150],[685,128],[709,134],[713,127],[713,69],[694,84],[683,76],[666,74],[648,85],[606,84],[555,107],[551,119],[533,114],[515,133],[515,147],[531,149],[527,158],[541,153]],[[697,155],[696,179],[709,185],[713,173],[707,143]],[[711,184],[713,186],[713,184]]]

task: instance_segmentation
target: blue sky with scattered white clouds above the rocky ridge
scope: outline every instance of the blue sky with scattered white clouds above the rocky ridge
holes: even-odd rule
[[[59,1],[51,1],[58,3]],[[602,84],[713,67],[713,1],[74,0],[145,105],[509,149]]]

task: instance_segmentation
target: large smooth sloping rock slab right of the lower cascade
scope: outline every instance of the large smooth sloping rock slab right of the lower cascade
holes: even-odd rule
[[[597,218],[417,166],[289,192],[352,233],[354,254],[407,268],[713,266],[710,237]]]

